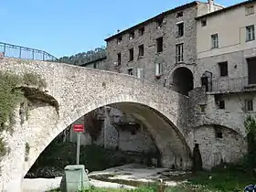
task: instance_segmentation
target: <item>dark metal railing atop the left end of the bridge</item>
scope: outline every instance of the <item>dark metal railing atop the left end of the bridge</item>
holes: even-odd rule
[[[58,61],[57,58],[46,51],[35,48],[25,48],[3,42],[0,42],[0,53],[3,53],[4,57],[8,58]]]

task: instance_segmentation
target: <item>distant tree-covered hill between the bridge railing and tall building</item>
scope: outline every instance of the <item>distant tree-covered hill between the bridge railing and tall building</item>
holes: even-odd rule
[[[81,65],[91,60],[101,59],[106,56],[106,50],[104,47],[95,48],[94,50],[89,50],[87,52],[78,53],[76,55],[72,55],[70,57],[65,56],[59,58],[59,62],[69,63],[73,65]]]

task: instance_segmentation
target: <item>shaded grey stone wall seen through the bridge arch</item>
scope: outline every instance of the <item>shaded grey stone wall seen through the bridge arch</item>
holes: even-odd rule
[[[103,109],[103,108],[102,108]],[[104,110],[103,110],[104,111]],[[110,112],[107,112],[108,117],[104,118],[104,112],[101,109],[97,109],[94,111],[97,114],[98,119],[104,119],[104,123],[106,123],[106,127],[102,124],[101,134],[96,141],[93,141],[93,144],[106,146],[106,148],[114,148],[123,150],[123,151],[131,151],[138,153],[147,153],[147,152],[156,152],[155,142],[151,138],[150,133],[148,133],[146,127],[141,125],[140,129],[132,134],[129,130],[121,130],[118,127],[114,126],[113,123],[123,122],[125,124],[135,123],[134,118],[129,117],[127,114],[123,114],[119,110],[115,108],[110,108]],[[128,117],[127,117],[128,116]],[[110,120],[110,121],[108,121]],[[75,123],[84,123],[84,117],[81,117]],[[122,126],[122,125],[121,125]],[[105,127],[105,130],[104,130]],[[86,124],[85,124],[86,128]],[[118,131],[119,130],[119,134]],[[106,141],[104,141],[104,131],[106,132]],[[76,142],[77,137],[76,133],[69,133],[69,141]],[[105,144],[104,144],[105,143]],[[81,145],[90,145],[92,144],[92,139],[90,133],[87,131],[80,136],[80,144]]]

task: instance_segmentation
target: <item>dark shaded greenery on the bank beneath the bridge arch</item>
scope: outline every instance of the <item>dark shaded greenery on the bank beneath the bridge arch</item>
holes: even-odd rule
[[[80,146],[80,164],[91,171],[99,171],[113,166],[131,164],[135,161],[143,161],[142,155],[128,154],[113,149],[104,149],[98,145]],[[37,158],[36,163],[29,170],[27,177],[44,176],[51,177],[63,174],[66,165],[76,164],[76,144],[53,142],[49,144],[44,152]],[[47,170],[54,168],[55,173],[47,173]]]

